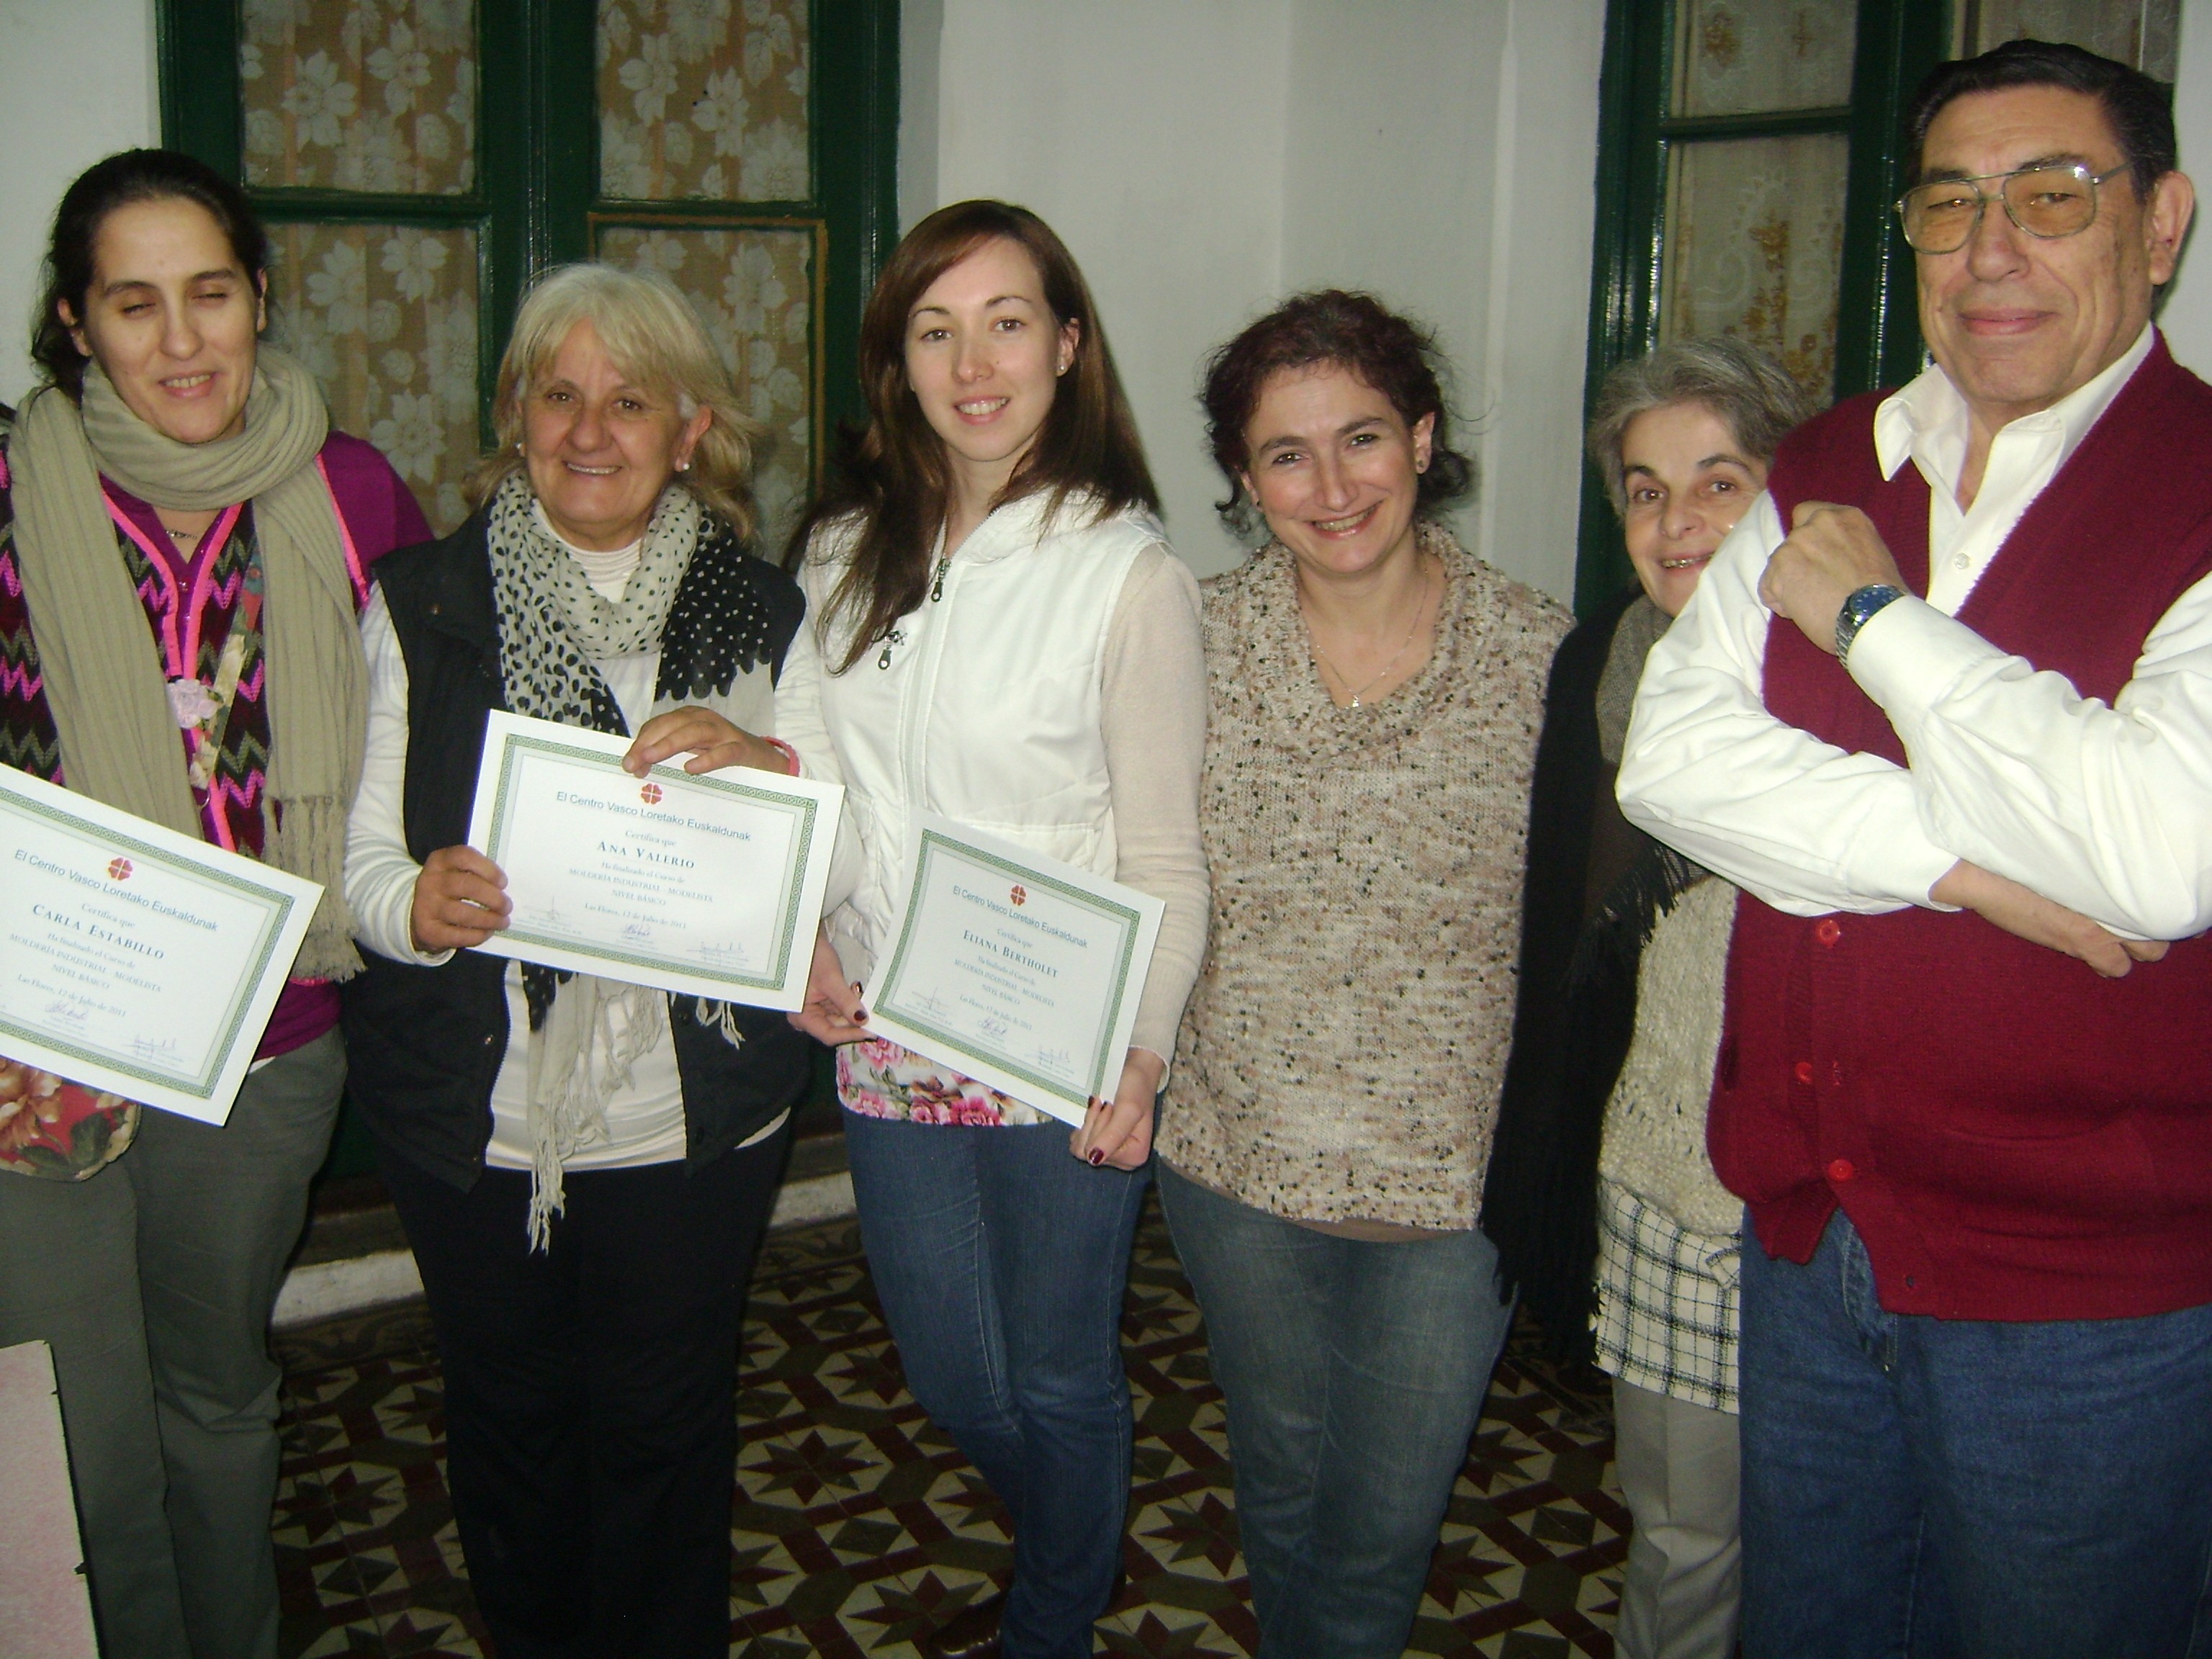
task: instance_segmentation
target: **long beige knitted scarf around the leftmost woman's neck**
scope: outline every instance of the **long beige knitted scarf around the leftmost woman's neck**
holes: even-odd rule
[[[314,465],[327,434],[314,376],[268,347],[254,365],[243,431],[204,445],[148,427],[93,363],[82,409],[55,387],[24,403],[9,469],[15,560],[62,774],[71,790],[195,841],[199,810],[177,719],[100,478],[181,513],[254,504],[270,675],[261,856],[323,885],[292,973],[343,980],[361,971],[345,907],[345,816],[361,787],[367,661],[336,507]]]

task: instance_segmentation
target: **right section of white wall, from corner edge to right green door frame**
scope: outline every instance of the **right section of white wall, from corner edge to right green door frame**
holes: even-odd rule
[[[1427,321],[1486,560],[1575,591],[1599,0],[1307,0],[1292,40],[1281,288]]]

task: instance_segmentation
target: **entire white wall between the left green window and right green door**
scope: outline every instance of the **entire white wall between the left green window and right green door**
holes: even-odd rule
[[[1219,526],[1197,374],[1281,296],[1369,288],[1438,330],[1482,495],[1460,529],[1568,595],[1604,0],[931,0],[936,153],[900,201],[1044,215],[1097,292],[1179,551]],[[911,53],[914,40],[909,35]],[[911,100],[909,100],[911,115]]]

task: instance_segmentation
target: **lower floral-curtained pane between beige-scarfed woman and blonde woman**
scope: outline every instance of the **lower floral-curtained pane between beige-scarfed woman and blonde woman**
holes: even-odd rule
[[[476,232],[272,226],[270,338],[323,383],[341,431],[385,451],[431,529],[467,518],[476,427]]]

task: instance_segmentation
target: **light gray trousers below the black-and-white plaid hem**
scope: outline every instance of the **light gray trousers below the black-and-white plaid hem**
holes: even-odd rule
[[[1734,1413],[1615,1378],[1613,1442],[1635,1517],[1613,1630],[1621,1659],[1728,1659],[1743,1597]]]

